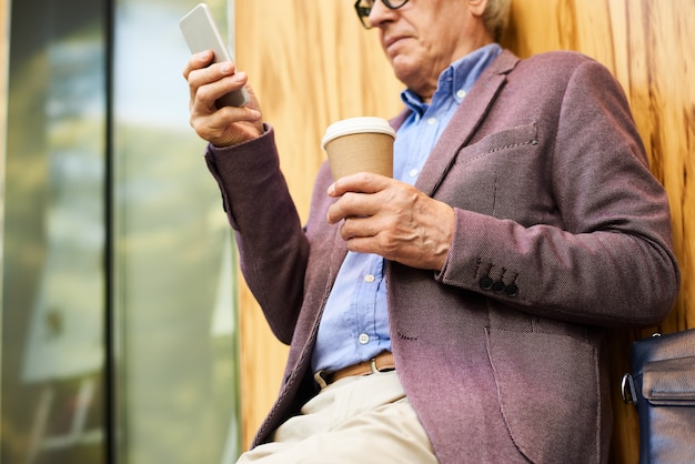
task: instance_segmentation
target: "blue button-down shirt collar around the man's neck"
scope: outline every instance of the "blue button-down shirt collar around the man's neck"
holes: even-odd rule
[[[456,104],[461,103],[485,68],[501,52],[502,48],[497,43],[490,43],[454,61],[440,74],[437,89],[432,95],[431,104],[437,105],[439,102],[449,98],[454,99]],[[422,117],[430,107],[410,89],[401,92],[401,100],[419,117]]]

